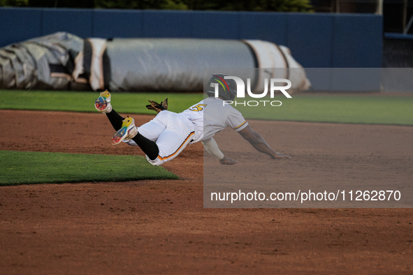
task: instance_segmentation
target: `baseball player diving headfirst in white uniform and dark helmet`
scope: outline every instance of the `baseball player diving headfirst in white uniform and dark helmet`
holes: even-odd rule
[[[219,97],[215,98],[215,85],[219,86]],[[225,85],[224,85],[225,84]],[[115,128],[112,144],[126,142],[138,146],[145,153],[147,161],[152,165],[161,165],[171,161],[188,144],[201,141],[205,149],[224,165],[233,165],[237,161],[226,158],[219,150],[213,136],[226,127],[231,127],[252,146],[273,159],[290,158],[275,152],[263,137],[252,131],[242,114],[224,101],[233,101],[236,96],[236,82],[224,80],[224,75],[213,75],[208,82],[209,98],[192,105],[184,112],[168,111],[168,101],[158,104],[150,101],[146,107],[158,114],[154,119],[140,127],[136,127],[133,118],[121,117],[110,104],[110,93],[101,92],[95,101],[96,110],[106,114],[110,124]]]

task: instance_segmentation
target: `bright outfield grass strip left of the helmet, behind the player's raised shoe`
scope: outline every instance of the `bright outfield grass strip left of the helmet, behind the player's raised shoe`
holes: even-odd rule
[[[168,110],[182,112],[202,100],[202,93],[126,93],[113,92],[112,106],[117,112],[155,114],[145,105],[150,99],[160,103],[168,98]],[[92,91],[19,91],[0,90],[0,109],[96,112],[94,101],[99,92]]]

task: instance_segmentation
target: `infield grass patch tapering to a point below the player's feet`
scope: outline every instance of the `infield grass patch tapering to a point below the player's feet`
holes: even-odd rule
[[[142,156],[0,151],[0,186],[179,179]]]

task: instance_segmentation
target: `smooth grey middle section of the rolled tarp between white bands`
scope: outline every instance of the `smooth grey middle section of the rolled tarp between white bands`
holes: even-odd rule
[[[115,39],[108,41],[109,88],[202,91],[203,68],[254,68],[239,40]]]

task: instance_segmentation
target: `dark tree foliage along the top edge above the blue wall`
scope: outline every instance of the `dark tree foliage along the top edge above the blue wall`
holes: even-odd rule
[[[310,0],[0,0],[0,6],[312,12]]]

